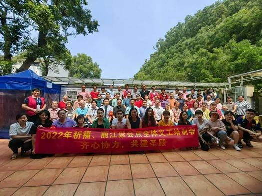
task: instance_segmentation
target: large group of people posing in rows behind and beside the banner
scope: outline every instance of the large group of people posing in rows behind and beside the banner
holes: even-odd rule
[[[236,103],[232,97],[221,104],[213,88],[203,91],[183,87],[180,92],[166,93],[165,89],[157,92],[155,87],[149,92],[146,85],[134,86],[133,90],[125,85],[121,90],[113,90],[113,85],[106,91],[93,87],[88,93],[85,85],[78,93],[77,100],[68,101],[64,95],[60,102],[53,101],[46,109],[46,102],[40,97],[40,89],[34,88],[32,95],[25,98],[22,108],[26,113],[16,116],[17,123],[10,126],[9,147],[13,151],[11,159],[16,159],[18,148],[21,155],[32,150],[35,154],[36,131],[39,127],[78,127],[99,129],[136,129],[154,126],[197,125],[199,148],[208,151],[209,146],[217,144],[225,149],[224,144],[231,144],[237,151],[243,148],[241,140],[253,147],[250,141],[261,142],[261,127],[254,119],[256,111],[239,96]]]

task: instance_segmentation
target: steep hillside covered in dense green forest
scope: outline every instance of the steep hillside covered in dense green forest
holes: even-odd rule
[[[187,16],[160,39],[134,79],[224,82],[262,69],[262,0],[224,0]]]

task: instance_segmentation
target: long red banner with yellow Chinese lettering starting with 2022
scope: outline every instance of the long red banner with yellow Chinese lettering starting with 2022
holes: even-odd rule
[[[36,153],[130,152],[198,146],[197,126],[142,129],[38,128]]]

